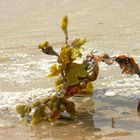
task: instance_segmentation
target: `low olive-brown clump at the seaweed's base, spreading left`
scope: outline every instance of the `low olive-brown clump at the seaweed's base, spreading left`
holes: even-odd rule
[[[45,100],[45,99],[44,99]],[[36,125],[42,121],[52,122],[66,111],[72,118],[76,116],[75,104],[64,96],[53,95],[45,102],[36,100],[32,105],[17,105],[16,112],[24,121]]]

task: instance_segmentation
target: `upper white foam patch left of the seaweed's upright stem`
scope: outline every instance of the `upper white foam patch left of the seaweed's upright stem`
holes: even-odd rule
[[[53,62],[53,60],[51,60]],[[32,80],[47,77],[52,62],[46,59],[30,60],[23,63],[0,64],[0,79],[17,84],[29,83]]]

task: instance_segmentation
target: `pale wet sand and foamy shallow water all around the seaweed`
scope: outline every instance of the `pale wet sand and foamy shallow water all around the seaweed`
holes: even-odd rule
[[[30,127],[21,124],[14,111],[19,101],[41,97],[48,87],[53,87],[53,81],[46,76],[55,57],[46,56],[37,45],[48,40],[59,51],[64,41],[60,19],[65,14],[70,19],[69,39],[88,40],[84,55],[92,50],[112,56],[125,53],[140,64],[139,0],[0,3],[0,140],[139,139],[136,107],[140,78],[121,75],[118,65],[100,65],[91,97],[95,113],[79,108],[81,118],[76,122],[59,120]]]

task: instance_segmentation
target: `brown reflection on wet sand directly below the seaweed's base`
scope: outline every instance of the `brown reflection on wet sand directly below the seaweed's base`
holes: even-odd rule
[[[33,128],[36,137],[40,139],[86,139],[86,137],[94,137],[94,120],[93,116],[83,115],[77,122],[59,120],[54,124],[40,124]]]

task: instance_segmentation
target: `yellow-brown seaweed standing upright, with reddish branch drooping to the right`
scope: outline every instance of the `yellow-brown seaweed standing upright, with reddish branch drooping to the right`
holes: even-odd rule
[[[88,95],[93,92],[93,84],[99,74],[99,63],[104,62],[112,65],[119,64],[122,73],[137,74],[140,77],[140,69],[132,57],[125,55],[110,57],[108,54],[95,55],[89,53],[86,58],[77,63],[82,57],[85,38],[76,38],[68,41],[68,17],[64,16],[61,21],[61,29],[65,35],[65,42],[60,52],[56,52],[48,41],[38,45],[43,53],[56,56],[57,64],[50,68],[48,77],[56,77],[56,94],[46,96],[43,99],[35,100],[33,103],[17,105],[16,112],[24,121],[36,125],[42,121],[53,122],[62,117],[63,112],[67,112],[72,119],[77,117],[75,103],[69,99],[76,94],[84,93]],[[139,106],[138,106],[139,111]]]

